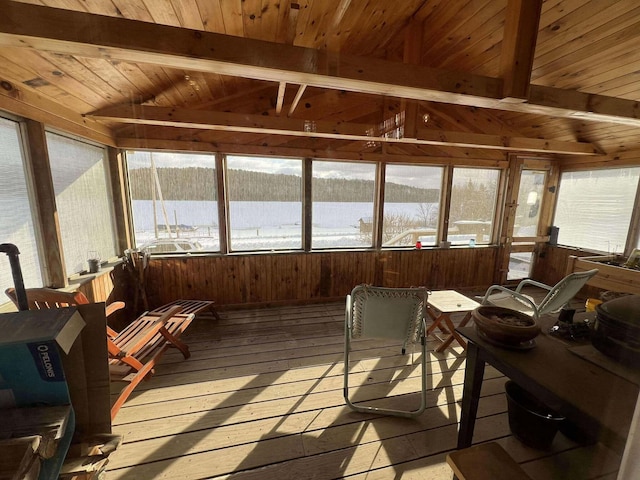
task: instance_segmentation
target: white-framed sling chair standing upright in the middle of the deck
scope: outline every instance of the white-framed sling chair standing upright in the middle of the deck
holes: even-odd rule
[[[357,412],[414,417],[426,408],[427,367],[425,313],[428,291],[419,288],[383,288],[359,285],[347,295],[344,345],[344,399]],[[417,410],[393,410],[356,405],[349,399],[349,352],[351,340],[382,338],[402,342],[402,354],[408,343],[422,344],[422,391]]]

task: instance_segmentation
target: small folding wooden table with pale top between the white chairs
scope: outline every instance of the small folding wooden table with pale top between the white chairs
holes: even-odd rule
[[[471,311],[479,307],[480,304],[455,290],[436,290],[435,292],[430,292],[427,303],[429,305],[427,313],[433,319],[433,323],[427,329],[427,336],[434,335],[436,328],[439,328],[440,331],[448,335],[445,338],[437,337],[442,341],[442,344],[436,348],[436,352],[442,352],[451,345],[454,339],[462,345],[462,348],[467,348],[467,342],[456,332],[456,327],[451,321],[451,314],[466,312],[466,315],[460,322],[460,327],[464,327],[471,319]],[[442,326],[443,322],[446,328]]]

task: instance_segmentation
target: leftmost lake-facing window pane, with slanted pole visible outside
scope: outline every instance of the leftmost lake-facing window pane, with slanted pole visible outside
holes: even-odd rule
[[[214,155],[132,151],[127,168],[138,248],[220,250]]]

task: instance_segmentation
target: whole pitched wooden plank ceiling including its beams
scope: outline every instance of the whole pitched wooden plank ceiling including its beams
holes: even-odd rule
[[[637,0],[0,0],[0,11],[0,109],[109,145],[489,162],[640,150]]]

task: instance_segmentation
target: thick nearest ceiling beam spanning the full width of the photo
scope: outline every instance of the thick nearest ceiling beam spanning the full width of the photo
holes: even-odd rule
[[[0,46],[640,126],[638,102],[620,98],[531,85],[518,103],[496,78],[10,0],[0,11]]]

